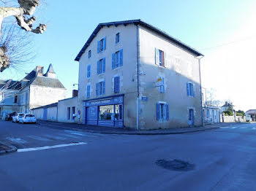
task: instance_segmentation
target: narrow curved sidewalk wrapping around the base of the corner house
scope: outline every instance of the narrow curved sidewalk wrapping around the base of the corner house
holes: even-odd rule
[[[91,133],[103,133],[103,134],[124,134],[124,135],[169,135],[169,134],[181,134],[181,133],[193,133],[203,130],[211,130],[219,128],[219,124],[206,125],[196,128],[171,128],[171,129],[159,129],[159,130],[134,130],[131,128],[110,128],[90,125],[79,125],[74,123],[65,122],[48,122],[38,120],[39,125],[52,126],[55,128],[66,128],[74,130],[83,130]]]

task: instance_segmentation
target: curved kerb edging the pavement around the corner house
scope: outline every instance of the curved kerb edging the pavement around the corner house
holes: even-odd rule
[[[42,124],[37,122],[38,125],[46,125],[46,126],[55,126],[55,127],[59,127],[59,128],[66,128],[66,129],[70,129],[70,130],[79,130],[79,131],[83,131],[83,132],[89,132],[89,133],[101,133],[101,134],[113,134],[113,135],[138,135],[138,136],[154,136],[154,135],[172,135],[172,134],[184,134],[184,133],[195,133],[195,132],[199,132],[199,131],[205,131],[205,130],[213,130],[213,129],[217,129],[219,127],[213,127],[213,128],[202,128],[202,129],[197,129],[197,130],[184,130],[184,131],[180,131],[180,132],[157,132],[157,133],[122,133],[122,132],[106,132],[106,131],[99,131],[99,130],[86,130],[86,129],[79,129],[79,128],[69,128],[69,127],[62,127],[60,125],[51,125],[51,124]]]

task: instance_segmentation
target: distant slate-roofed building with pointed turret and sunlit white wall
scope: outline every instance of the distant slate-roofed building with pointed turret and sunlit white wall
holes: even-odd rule
[[[0,87],[6,81],[0,81]],[[0,117],[12,112],[29,113],[39,106],[56,103],[66,98],[66,88],[56,78],[56,73],[50,64],[48,71],[43,73],[43,67],[37,66],[26,77],[18,82],[12,82],[7,91],[15,90],[15,95],[5,99],[0,104]]]

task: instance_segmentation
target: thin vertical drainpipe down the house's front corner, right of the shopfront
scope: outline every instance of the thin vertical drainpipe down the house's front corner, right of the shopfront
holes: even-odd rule
[[[137,130],[139,130],[139,117],[140,117],[140,114],[139,114],[139,111],[140,111],[140,83],[139,83],[139,64],[140,64],[140,44],[139,44],[139,40],[140,40],[140,36],[139,36],[139,28],[138,28],[138,25],[137,25],[137,92],[138,92],[138,95],[137,95]]]

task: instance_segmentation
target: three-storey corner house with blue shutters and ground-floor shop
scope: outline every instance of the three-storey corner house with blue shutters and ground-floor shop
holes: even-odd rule
[[[83,124],[137,129],[203,125],[203,55],[142,20],[101,23],[78,53]]]

